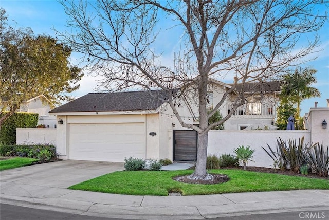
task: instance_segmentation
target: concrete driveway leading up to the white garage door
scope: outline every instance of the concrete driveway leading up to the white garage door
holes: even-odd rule
[[[5,183],[66,189],[79,182],[121,170],[124,170],[123,163],[82,160],[43,163],[2,171],[1,191]]]

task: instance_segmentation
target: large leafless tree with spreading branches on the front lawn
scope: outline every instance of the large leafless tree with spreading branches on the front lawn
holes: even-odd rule
[[[208,131],[229,119],[247,98],[244,86],[240,90],[232,86],[207,113],[210,78],[223,78],[234,72],[244,85],[264,82],[284,72],[314,51],[317,35],[302,46],[299,38],[322,27],[326,14],[317,14],[314,8],[328,4],[315,0],[98,0],[91,3],[62,0],[61,3],[72,30],[61,33],[61,37],[71,48],[84,54],[90,70],[104,76],[104,87],[111,91],[136,86],[168,91],[169,99],[165,101],[180,124],[198,132],[197,163],[191,178],[207,175]],[[167,51],[157,41],[163,31],[172,31],[159,28],[165,19],[172,22],[172,29],[184,31],[179,38],[170,39],[181,43],[169,65],[161,63]],[[157,52],[159,48],[161,52]],[[177,86],[178,93],[172,93]],[[174,103],[177,96],[188,97],[191,88],[197,96],[199,126],[182,120]],[[230,113],[208,125],[209,117],[233,90],[238,96]]]

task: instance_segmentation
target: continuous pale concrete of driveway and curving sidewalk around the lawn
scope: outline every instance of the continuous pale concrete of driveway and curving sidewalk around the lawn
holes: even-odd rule
[[[122,163],[66,160],[2,171],[0,203],[124,219],[204,219],[329,210],[329,190],[131,196],[66,189],[119,170],[123,170]]]

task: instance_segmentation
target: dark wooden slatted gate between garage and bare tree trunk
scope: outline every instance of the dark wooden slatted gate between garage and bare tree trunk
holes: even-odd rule
[[[196,161],[197,132],[191,130],[174,130],[174,161]]]

